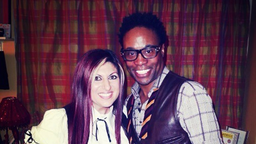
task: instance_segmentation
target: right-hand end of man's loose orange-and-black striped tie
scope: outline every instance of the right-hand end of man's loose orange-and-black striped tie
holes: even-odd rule
[[[148,136],[147,129],[148,129],[149,121],[150,121],[151,116],[152,116],[152,110],[154,108],[154,102],[155,102],[155,98],[156,98],[156,95],[157,95],[157,90],[158,89],[154,90],[154,92],[150,96],[149,101],[148,101],[147,106],[146,106],[144,121],[142,123],[142,128],[141,128],[141,132],[140,132],[140,138],[141,139],[146,139],[147,136]]]

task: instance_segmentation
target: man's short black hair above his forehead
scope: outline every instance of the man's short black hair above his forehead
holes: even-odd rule
[[[127,17],[123,18],[121,27],[119,28],[119,43],[123,47],[124,35],[131,29],[135,27],[145,27],[153,30],[159,38],[159,44],[164,44],[166,42],[166,30],[163,22],[157,18],[156,15],[152,13],[133,13]]]

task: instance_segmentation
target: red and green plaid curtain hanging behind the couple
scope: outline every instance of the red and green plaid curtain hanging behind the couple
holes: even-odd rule
[[[18,98],[33,123],[63,107],[77,59],[95,48],[119,54],[122,18],[153,12],[166,26],[169,69],[207,88],[222,127],[240,127],[249,9],[248,0],[14,0]]]

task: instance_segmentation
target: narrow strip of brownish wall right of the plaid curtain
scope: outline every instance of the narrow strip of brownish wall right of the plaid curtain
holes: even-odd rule
[[[249,131],[247,144],[256,144],[256,1],[252,1],[243,127]]]

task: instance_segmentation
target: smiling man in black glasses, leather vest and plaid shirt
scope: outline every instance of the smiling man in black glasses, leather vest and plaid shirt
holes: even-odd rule
[[[164,64],[163,23],[151,13],[135,13],[123,18],[118,36],[136,81],[125,100],[130,143],[222,143],[205,88]]]

